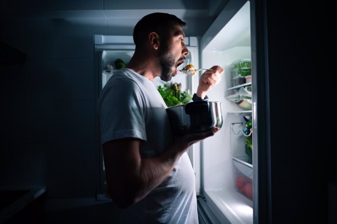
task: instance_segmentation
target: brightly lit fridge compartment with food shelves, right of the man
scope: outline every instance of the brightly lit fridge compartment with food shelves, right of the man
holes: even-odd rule
[[[199,220],[204,223],[260,223],[254,214],[259,149],[252,7],[250,1],[230,1],[200,39],[201,66],[225,69],[221,82],[208,93],[221,102],[224,123],[199,150]]]

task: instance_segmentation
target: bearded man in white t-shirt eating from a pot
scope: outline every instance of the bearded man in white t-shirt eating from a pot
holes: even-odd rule
[[[166,13],[153,13],[135,26],[135,53],[111,76],[99,97],[106,182],[122,210],[122,223],[197,224],[195,175],[186,150],[218,131],[172,136],[166,104],[152,80],[169,81],[189,54],[182,27]],[[193,100],[219,83],[223,68],[200,78]]]

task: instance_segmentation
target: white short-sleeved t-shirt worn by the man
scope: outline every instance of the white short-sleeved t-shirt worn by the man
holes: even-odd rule
[[[144,140],[140,147],[142,158],[160,155],[172,144],[166,108],[150,80],[130,69],[120,69],[99,96],[101,144],[134,137]],[[122,223],[198,223],[195,175],[187,153],[158,187],[123,209]]]

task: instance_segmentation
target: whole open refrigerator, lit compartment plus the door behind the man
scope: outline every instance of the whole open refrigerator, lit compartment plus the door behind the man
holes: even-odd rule
[[[258,138],[258,99],[262,101],[265,98],[263,86],[259,83],[263,84],[264,80],[259,80],[257,74],[257,65],[263,68],[263,60],[259,61],[256,57],[254,22],[253,1],[230,0],[203,37],[186,37],[190,55],[178,69],[187,64],[196,68],[220,65],[225,69],[220,83],[208,93],[211,101],[221,102],[223,126],[214,136],[188,149],[196,175],[200,224],[258,224],[266,219],[265,216],[260,219],[260,216],[266,213],[267,184],[262,178],[259,181],[260,176],[266,173],[259,167],[265,168],[267,164],[265,157],[259,158],[259,151],[265,149],[260,149],[258,144],[259,139],[264,139],[263,133]],[[114,73],[107,65],[114,67],[116,59],[127,63],[134,52],[133,39],[130,36],[95,35],[94,51],[95,91],[98,96]],[[238,67],[240,64],[244,66]],[[240,69],[249,70],[249,74],[241,74]],[[201,74],[190,76],[178,73],[169,83],[181,83],[182,90],[193,94]],[[158,86],[166,82],[157,78],[154,83]],[[260,88],[259,91],[257,88]],[[243,106],[240,102],[246,104]],[[247,124],[251,126],[247,127]],[[96,119],[97,146],[98,125]],[[252,154],[246,149],[247,138],[250,138]],[[101,146],[99,148],[97,200],[108,200]],[[241,183],[238,179],[242,180]],[[259,195],[261,191],[265,193]]]

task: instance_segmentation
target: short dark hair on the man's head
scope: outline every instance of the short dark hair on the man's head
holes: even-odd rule
[[[133,42],[142,45],[147,41],[148,34],[156,32],[160,36],[169,33],[174,25],[186,26],[186,22],[169,13],[151,13],[140,19],[133,29]]]

